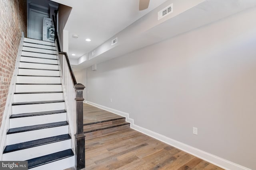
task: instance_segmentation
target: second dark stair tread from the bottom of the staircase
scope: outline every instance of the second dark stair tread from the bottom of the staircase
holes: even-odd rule
[[[4,149],[4,153],[14,152],[17,150],[22,150],[22,149],[28,149],[28,148],[37,147],[40,145],[46,145],[49,143],[64,141],[67,139],[71,139],[69,134],[58,135],[58,136],[54,136],[54,137],[47,137],[47,138],[43,138],[43,139],[37,139],[34,141],[17,143],[14,145],[7,145]]]

